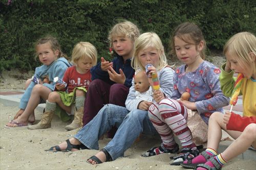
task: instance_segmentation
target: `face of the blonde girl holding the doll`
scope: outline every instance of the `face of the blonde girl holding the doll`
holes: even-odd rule
[[[145,67],[147,64],[152,64],[154,67],[157,67],[159,65],[159,53],[157,51],[157,48],[155,47],[148,47],[143,50],[141,50],[138,53],[139,61]]]

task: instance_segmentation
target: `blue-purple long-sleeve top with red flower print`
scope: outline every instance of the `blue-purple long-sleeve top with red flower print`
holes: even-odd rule
[[[195,102],[197,111],[208,125],[211,113],[223,112],[222,107],[229,105],[221,90],[219,75],[221,70],[214,64],[204,61],[193,72],[185,72],[186,65],[176,69],[172,99],[179,99],[183,92],[189,92],[189,102]]]

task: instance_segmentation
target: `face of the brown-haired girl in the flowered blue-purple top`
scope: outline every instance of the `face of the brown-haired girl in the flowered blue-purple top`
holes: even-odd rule
[[[189,44],[182,39],[175,37],[175,53],[178,59],[184,64],[193,64],[198,59],[201,59],[200,52],[203,49],[203,42],[201,41],[199,45]],[[197,47],[197,48],[196,48]]]

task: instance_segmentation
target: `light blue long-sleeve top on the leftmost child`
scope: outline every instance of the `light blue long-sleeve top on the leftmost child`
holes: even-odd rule
[[[59,77],[60,79],[62,79],[66,69],[70,66],[71,64],[67,59],[60,57],[48,66],[41,65],[40,67],[36,67],[34,76],[38,79],[41,79],[41,81],[47,76],[51,83],[44,83],[43,85],[53,91],[55,89],[55,83],[53,83],[53,79],[55,77]],[[27,107],[32,89],[35,85],[36,84],[34,82],[31,82],[28,88],[25,90],[25,93],[23,94],[22,99],[19,103],[20,109],[25,110],[25,108]]]

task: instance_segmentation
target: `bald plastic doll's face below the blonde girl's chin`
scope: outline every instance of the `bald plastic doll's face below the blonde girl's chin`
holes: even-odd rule
[[[150,83],[148,82],[147,76],[143,71],[138,72],[134,76],[134,88],[139,92],[145,92],[150,88]]]

